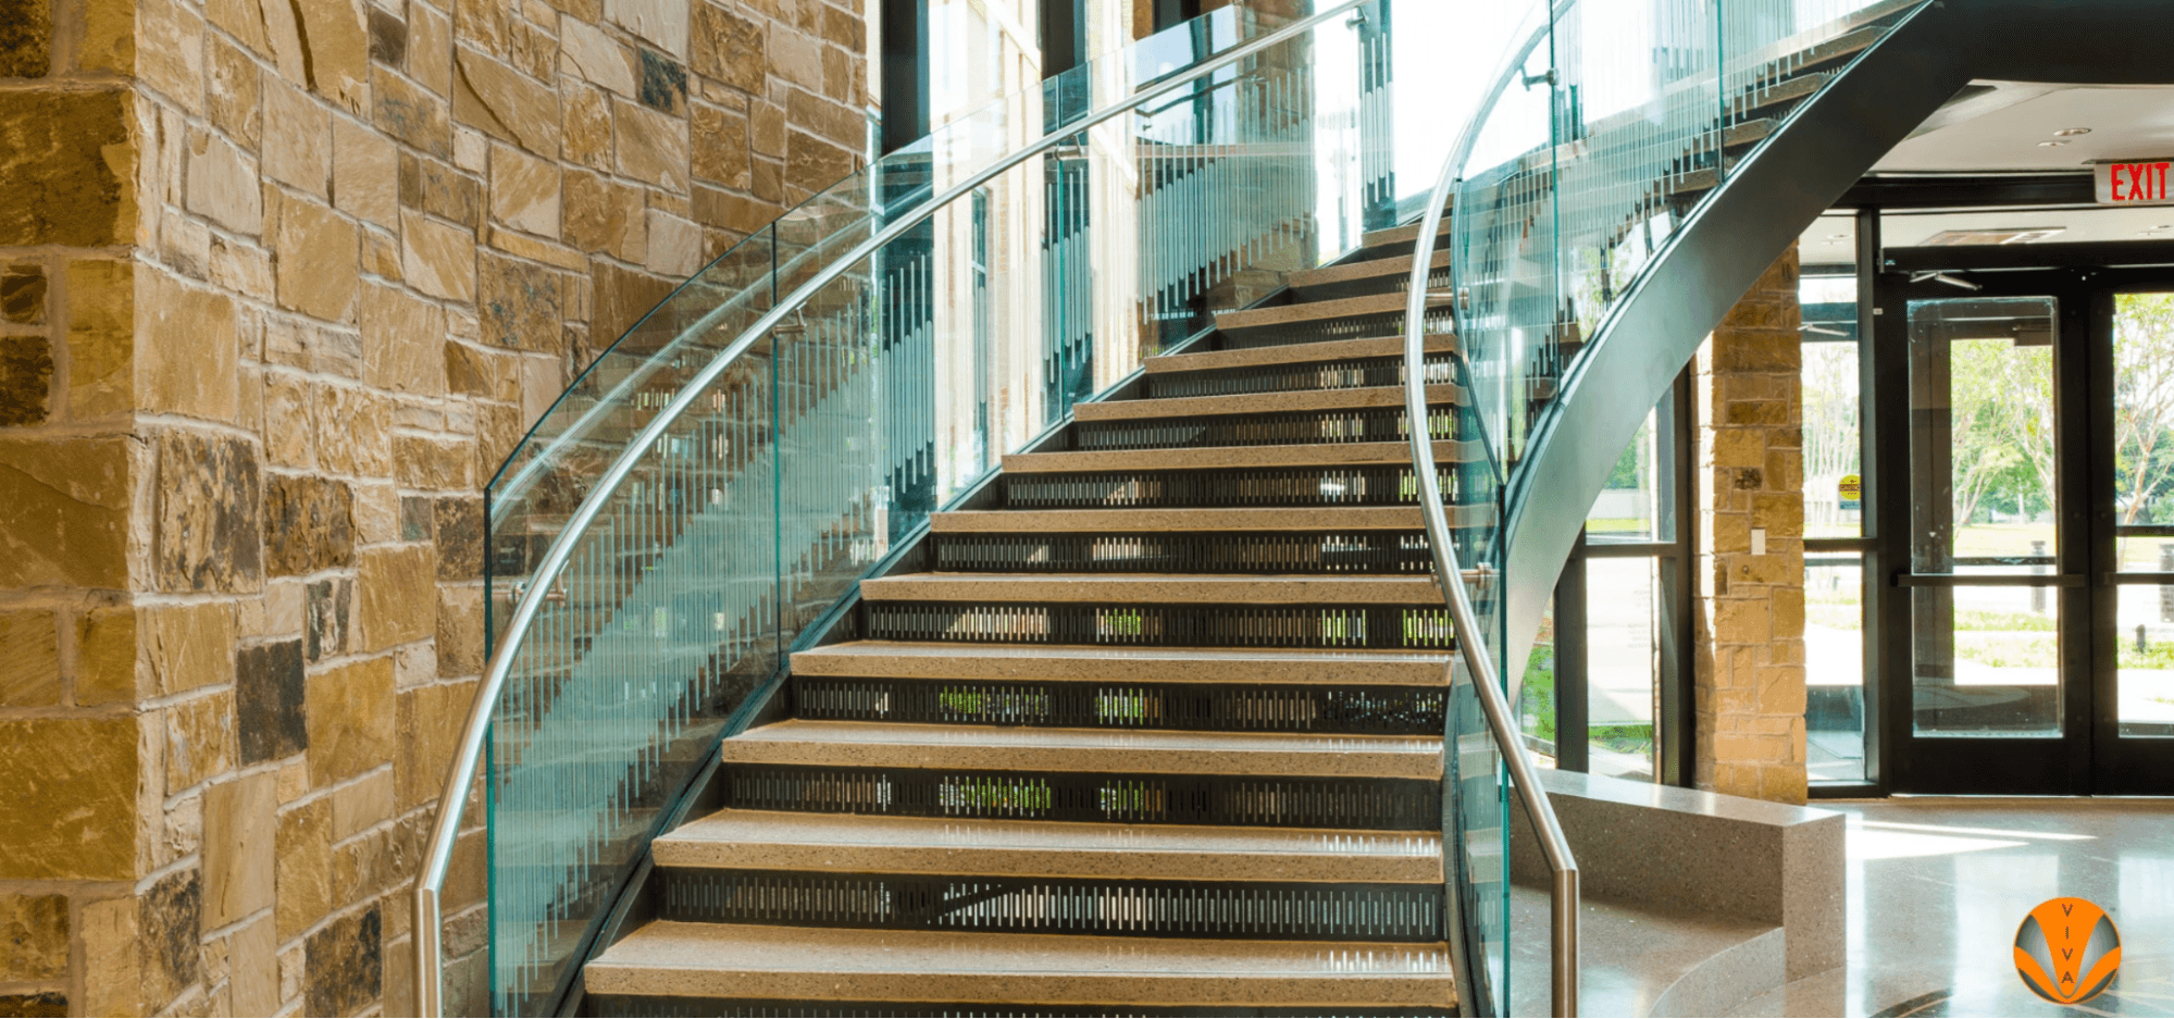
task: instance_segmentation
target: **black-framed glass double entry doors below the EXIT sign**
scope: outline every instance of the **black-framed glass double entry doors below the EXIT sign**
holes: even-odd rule
[[[2174,293],[1920,276],[1881,330],[1909,391],[1889,784],[2170,793]]]

